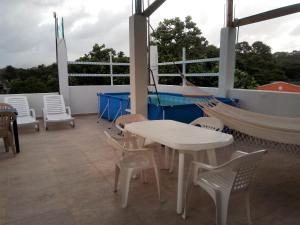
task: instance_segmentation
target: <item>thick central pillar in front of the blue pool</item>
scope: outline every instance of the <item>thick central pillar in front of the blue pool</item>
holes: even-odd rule
[[[131,113],[148,115],[147,19],[129,18]]]

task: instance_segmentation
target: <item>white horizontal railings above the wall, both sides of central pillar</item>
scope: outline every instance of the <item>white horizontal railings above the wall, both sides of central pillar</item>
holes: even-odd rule
[[[186,60],[186,50],[185,48],[182,49],[182,60],[181,61],[174,61],[174,62],[160,62],[158,63],[157,67],[159,66],[171,66],[171,65],[182,65],[182,71],[180,73],[158,73],[158,77],[178,77],[184,75],[185,77],[218,77],[220,74],[217,73],[187,73],[186,66],[188,64],[197,64],[197,63],[207,63],[207,62],[219,62],[220,58],[206,58],[206,59],[192,59]],[[121,62],[113,62],[112,61],[112,54],[109,54],[109,62],[78,62],[78,61],[68,61],[68,65],[99,65],[99,66],[109,66],[110,73],[108,74],[98,74],[98,73],[69,73],[69,77],[110,77],[111,85],[113,86],[113,78],[114,77],[129,77],[129,74],[114,74],[113,67],[114,66],[129,66],[130,63],[121,63]],[[185,82],[182,82],[185,85]]]

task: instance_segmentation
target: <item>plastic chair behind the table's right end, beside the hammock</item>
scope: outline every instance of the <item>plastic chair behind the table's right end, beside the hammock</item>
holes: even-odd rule
[[[220,131],[220,132],[224,128],[224,124],[222,123],[222,121],[214,117],[199,117],[193,120],[190,124],[194,126],[203,127],[209,130]],[[175,151],[176,151],[175,149],[172,150],[171,165],[169,169],[170,173],[172,173],[174,169]],[[201,154],[202,152],[198,152],[198,153]],[[206,153],[207,153],[207,157],[209,158],[209,161],[213,162],[213,164],[216,165],[217,162],[216,162],[215,150],[211,149],[208,150]],[[194,160],[196,159],[197,156],[194,155]]]

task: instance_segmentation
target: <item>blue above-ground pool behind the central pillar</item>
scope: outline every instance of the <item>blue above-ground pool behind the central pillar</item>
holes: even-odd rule
[[[99,99],[99,116],[108,120],[115,120],[121,115],[128,114],[130,108],[129,93],[97,93]],[[195,102],[207,102],[211,97],[186,97],[181,94],[150,93],[148,95],[148,119],[171,119],[184,123],[190,123],[194,119],[203,116],[202,110]],[[235,105],[236,100],[229,98],[217,98],[225,104]]]

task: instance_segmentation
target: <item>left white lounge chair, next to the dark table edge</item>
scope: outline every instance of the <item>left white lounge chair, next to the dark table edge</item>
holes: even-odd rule
[[[36,119],[35,110],[29,108],[26,96],[5,97],[4,101],[17,110],[18,126],[34,126],[34,128],[39,131],[39,121]]]

